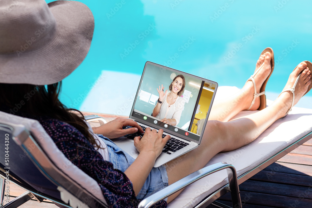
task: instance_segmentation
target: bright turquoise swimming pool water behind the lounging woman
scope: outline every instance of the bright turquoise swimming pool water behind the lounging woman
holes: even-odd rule
[[[295,66],[312,60],[309,0],[81,2],[94,14],[94,37],[84,62],[63,81],[61,94],[66,105],[78,109],[93,111],[86,99],[102,100],[100,113],[114,113],[106,99],[131,104],[117,92],[135,93],[138,80],[127,77],[139,77],[146,61],[242,87],[269,46],[275,52],[275,69],[266,91],[275,99]],[[103,71],[118,76],[100,79]],[[105,80],[115,85],[103,85]],[[92,86],[99,86],[96,81],[102,82],[103,91],[90,97]],[[302,106],[312,108],[309,100]]]

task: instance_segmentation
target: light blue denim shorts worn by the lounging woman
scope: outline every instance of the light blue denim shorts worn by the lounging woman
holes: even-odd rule
[[[114,168],[125,172],[125,170],[134,162],[134,158],[131,157],[127,152],[124,152],[122,149],[120,149],[110,139],[102,135],[98,136],[106,143],[110,155],[110,162],[113,163]],[[164,166],[153,167],[141,191],[139,192],[137,199],[142,200],[156,193],[157,191],[162,190],[166,186],[168,186],[166,168]]]

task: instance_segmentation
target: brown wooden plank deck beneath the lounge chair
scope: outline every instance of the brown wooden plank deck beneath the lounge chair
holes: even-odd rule
[[[114,116],[98,114],[114,119]],[[241,201],[245,208],[311,208],[312,207],[312,139],[280,158],[240,186]],[[21,188],[10,184],[13,199],[24,193]],[[231,195],[227,193],[217,200],[232,207]],[[30,200],[21,208],[57,208],[51,201],[38,203]],[[213,206],[208,206],[212,208]]]

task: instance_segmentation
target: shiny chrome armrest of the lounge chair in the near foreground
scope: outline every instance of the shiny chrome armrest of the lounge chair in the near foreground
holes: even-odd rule
[[[174,194],[175,192],[185,188],[186,186],[192,184],[193,182],[208,176],[214,172],[218,172],[220,170],[227,169],[227,175],[229,180],[229,188],[231,191],[233,207],[241,207],[241,198],[238,188],[237,175],[235,167],[227,164],[225,162],[218,162],[213,165],[204,167],[192,174],[188,175],[180,179],[179,181],[167,186],[161,191],[153,194],[152,196],[147,197],[142,200],[138,206],[138,208],[148,208],[156,204],[157,202],[167,198],[168,196]],[[229,170],[230,169],[230,170]]]

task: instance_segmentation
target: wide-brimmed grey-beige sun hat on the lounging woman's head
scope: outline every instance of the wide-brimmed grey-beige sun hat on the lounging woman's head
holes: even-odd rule
[[[85,59],[93,30],[92,12],[81,2],[2,0],[0,83],[61,81]]]

